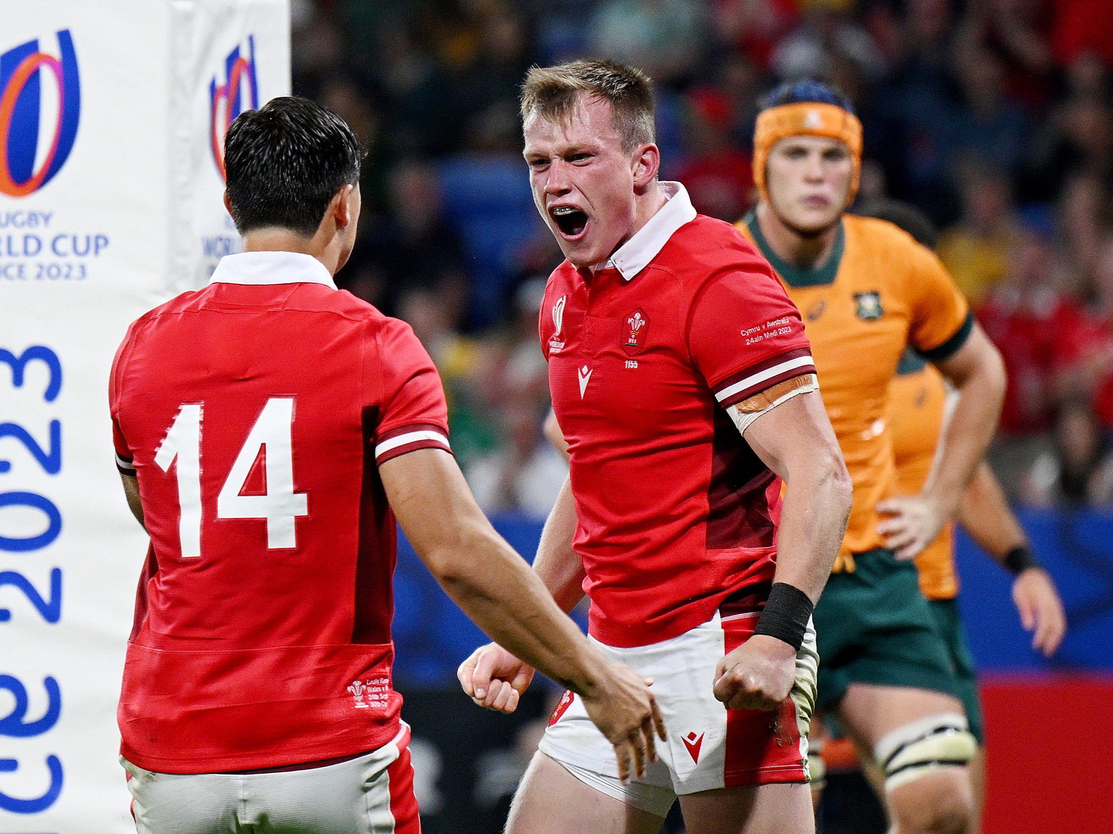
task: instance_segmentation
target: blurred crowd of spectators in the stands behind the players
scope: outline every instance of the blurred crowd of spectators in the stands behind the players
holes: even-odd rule
[[[293,0],[294,90],[366,147],[341,286],[408,321],[489,512],[543,516],[565,471],[538,312],[561,255],[533,208],[518,88],[607,57],[654,79],[662,178],[703,214],[752,205],[761,97],[831,82],[865,128],[859,203],[902,200],[1009,387],[993,463],[1014,498],[1113,505],[1110,0]],[[853,210],[853,209],[851,209]]]

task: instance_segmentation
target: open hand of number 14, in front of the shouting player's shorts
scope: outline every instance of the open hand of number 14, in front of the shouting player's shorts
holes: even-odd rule
[[[644,778],[646,767],[657,761],[657,742],[663,742],[664,718],[649,691],[650,677],[642,677],[621,663],[607,663],[599,684],[581,695],[588,717],[614,746],[619,778],[626,784],[631,774]]]

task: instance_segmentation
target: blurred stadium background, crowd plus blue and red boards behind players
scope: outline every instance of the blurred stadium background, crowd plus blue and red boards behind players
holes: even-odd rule
[[[444,377],[467,479],[526,555],[563,466],[540,430],[538,308],[561,256],[519,156],[525,69],[593,56],[649,70],[662,177],[727,220],[752,200],[760,97],[802,76],[845,90],[865,127],[859,202],[906,200],[932,218],[940,256],[1005,355],[993,461],[1070,610],[1062,651],[1041,659],[1004,572],[961,542],[962,603],[986,676],[986,831],[1113,824],[1113,739],[1099,709],[1113,684],[1087,675],[1113,673],[1113,4],[295,0],[293,10],[295,92],[344,116],[368,149],[361,245],[337,280],[414,326]],[[426,828],[498,831],[545,699],[528,705],[530,722],[467,712],[454,667],[482,637],[405,549],[397,606]],[[827,830],[869,831],[861,796],[839,784]]]

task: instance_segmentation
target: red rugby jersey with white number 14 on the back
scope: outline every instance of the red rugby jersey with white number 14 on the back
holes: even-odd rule
[[[131,325],[109,399],[150,534],[122,755],[209,773],[390,742],[395,524],[376,464],[449,448],[408,325],[309,256],[233,255]]]

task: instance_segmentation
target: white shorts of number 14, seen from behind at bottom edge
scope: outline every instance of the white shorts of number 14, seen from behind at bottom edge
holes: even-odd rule
[[[270,773],[152,773],[122,756],[138,834],[420,834],[410,727],[345,762]]]

